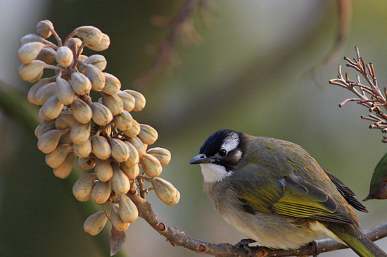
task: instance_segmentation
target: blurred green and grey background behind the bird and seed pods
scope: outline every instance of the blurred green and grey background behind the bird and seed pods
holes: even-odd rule
[[[369,130],[369,123],[360,120],[366,108],[354,103],[338,108],[352,95],[328,80],[336,77],[337,64],[344,64],[342,56],[355,57],[359,46],[364,60],[374,63],[379,84],[387,81],[387,2],[352,1],[343,54],[317,66],[336,39],[336,1],[205,1],[194,13],[194,44],[179,41],[175,67],[161,68],[146,87],[137,88],[134,82],[168,33],[154,21],[173,17],[183,3],[0,0],[1,87],[9,84],[26,101],[30,84],[18,78],[16,53],[20,38],[34,33],[39,20],[51,20],[62,39],[80,25],[99,27],[111,41],[101,53],[108,61],[106,72],[117,76],[124,89],[146,96],[146,108],[134,118],[158,130],[154,146],[172,152],[161,177],[179,189],[179,204],[166,206],[153,192],[147,199],[169,225],[208,242],[235,244],[244,238],[220,218],[203,192],[200,168],[189,165],[220,128],[300,144],[358,199],[367,196],[386,144],[379,130]],[[33,132],[1,109],[0,143],[0,255],[108,256],[110,225],[99,237],[83,231],[91,213],[72,196],[72,181],[53,176]],[[364,204],[369,213],[357,212],[364,230],[386,222],[385,202]],[[377,244],[387,250],[386,239]],[[141,219],[127,230],[124,250],[125,256],[198,256],[171,246]],[[354,255],[343,250],[320,256]]]

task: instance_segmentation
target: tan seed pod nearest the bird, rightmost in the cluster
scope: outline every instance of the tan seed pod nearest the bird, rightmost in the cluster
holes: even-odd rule
[[[177,191],[176,187],[173,186],[167,180],[163,180],[160,177],[153,177],[151,180],[153,189],[158,196],[158,198],[166,203],[169,206],[175,205],[179,202],[180,193]]]

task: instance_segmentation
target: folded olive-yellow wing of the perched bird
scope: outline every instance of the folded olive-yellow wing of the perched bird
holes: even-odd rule
[[[250,213],[272,213],[330,222],[353,222],[329,194],[300,177],[283,177],[260,187],[245,187],[238,191],[237,197],[241,207]]]

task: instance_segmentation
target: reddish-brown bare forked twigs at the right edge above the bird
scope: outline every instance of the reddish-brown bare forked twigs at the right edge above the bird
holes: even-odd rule
[[[341,72],[341,65],[338,65],[338,77],[336,79],[329,80],[329,84],[336,84],[339,87],[348,89],[350,92],[353,92],[357,97],[345,99],[338,106],[342,107],[344,104],[349,101],[355,101],[357,104],[366,106],[370,112],[368,116],[362,115],[361,118],[364,120],[371,120],[374,124],[369,125],[369,128],[376,128],[381,130],[383,133],[387,133],[387,89],[383,88],[383,92],[378,86],[376,81],[376,75],[374,70],[373,63],[365,63],[363,58],[360,56],[359,49],[355,47],[356,58],[351,60],[348,57],[344,57],[344,60],[347,61],[347,67],[355,69],[367,84],[363,84],[360,81],[360,75],[356,75],[356,80],[350,80],[348,73]],[[384,93],[384,94],[383,94]],[[384,110],[383,110],[384,109]],[[387,137],[384,136],[382,139],[383,143],[387,143]]]

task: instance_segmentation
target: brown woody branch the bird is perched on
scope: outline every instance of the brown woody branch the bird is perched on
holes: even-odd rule
[[[153,212],[151,203],[141,198],[138,194],[127,194],[136,204],[139,210],[139,216],[144,218],[154,230],[159,232],[167,239],[172,246],[183,246],[186,249],[196,251],[197,253],[206,253],[212,256],[312,256],[319,253],[348,248],[332,239],[322,239],[312,242],[296,250],[268,249],[262,246],[251,246],[250,252],[247,252],[241,246],[232,244],[212,244],[204,242],[189,236],[182,230],[170,227]],[[366,236],[372,241],[387,237],[387,222],[365,232]]]

